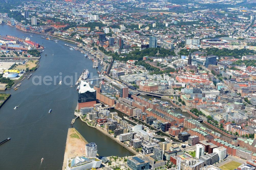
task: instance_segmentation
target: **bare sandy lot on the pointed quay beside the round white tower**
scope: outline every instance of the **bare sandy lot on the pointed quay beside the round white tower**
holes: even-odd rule
[[[87,143],[88,142],[81,136],[81,134],[75,128],[68,129],[64,162],[62,167],[63,170],[67,166],[67,160],[69,157],[86,155],[85,145]]]

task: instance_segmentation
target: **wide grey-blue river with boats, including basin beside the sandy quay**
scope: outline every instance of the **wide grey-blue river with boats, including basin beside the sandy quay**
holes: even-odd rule
[[[17,30],[15,27],[0,25],[2,36],[13,35],[22,38],[29,37],[31,41],[44,44],[39,68],[33,71],[33,76],[22,81],[18,90],[1,91],[11,93],[10,99],[0,109],[0,141],[11,137],[12,139],[0,146],[0,169],[61,169],[65,151],[66,137],[70,122],[74,116],[77,105],[78,91],[70,85],[35,85],[45,76],[54,79],[54,76],[73,76],[73,83],[77,80],[84,68],[88,68],[90,77],[98,76],[97,70],[92,68],[92,61],[85,58],[79,51],[71,51],[64,46],[66,42],[55,43],[52,40],[41,38],[35,34],[33,37]],[[66,43],[67,44],[67,43]],[[72,44],[70,44],[72,45]],[[47,53],[47,56],[45,56]],[[40,77],[41,76],[41,77]],[[78,77],[77,77],[78,78]],[[67,79],[67,82],[70,80]],[[91,85],[92,87],[93,85]],[[13,108],[18,106],[17,110]],[[49,109],[52,112],[49,114]],[[101,156],[132,155],[121,145],[104,136],[94,128],[88,127],[79,119],[75,127],[88,142],[98,145]],[[44,157],[42,164],[41,158]]]

